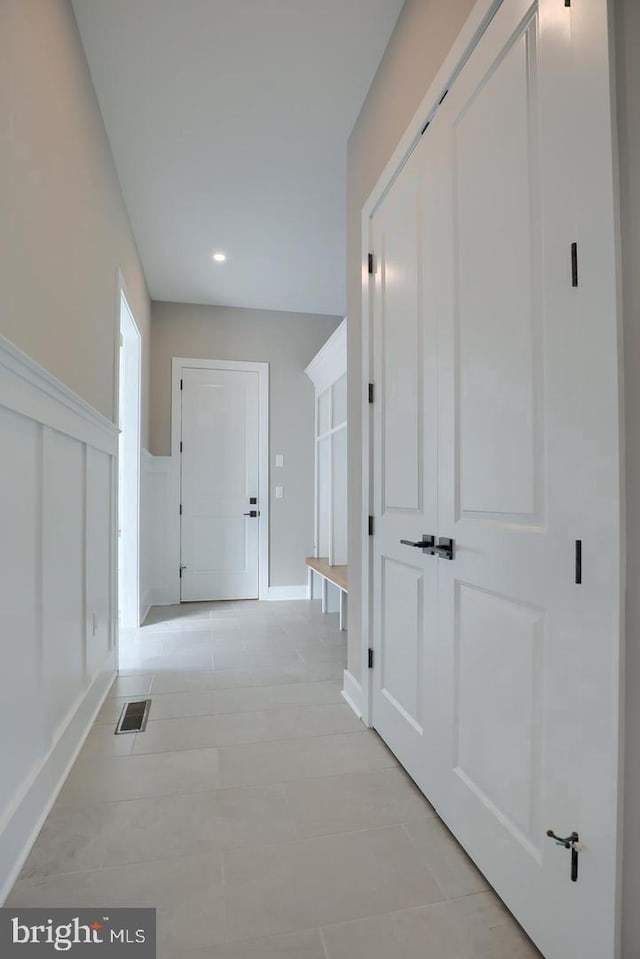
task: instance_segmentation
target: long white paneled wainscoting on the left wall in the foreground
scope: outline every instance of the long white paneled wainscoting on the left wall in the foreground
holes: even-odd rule
[[[0,337],[0,902],[115,675],[117,449]]]

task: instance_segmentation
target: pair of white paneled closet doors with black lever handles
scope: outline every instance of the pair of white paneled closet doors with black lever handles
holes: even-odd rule
[[[564,14],[505,0],[372,219],[372,713],[547,959],[613,959],[617,321]]]

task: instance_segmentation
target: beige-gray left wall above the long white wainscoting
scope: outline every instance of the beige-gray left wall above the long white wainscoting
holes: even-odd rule
[[[0,333],[114,417],[116,268],[149,298],[68,0],[0,0]]]

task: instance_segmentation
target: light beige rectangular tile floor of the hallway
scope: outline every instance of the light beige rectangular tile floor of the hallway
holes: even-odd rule
[[[159,959],[540,959],[344,703],[345,640],[317,603],[153,609],[8,903],[155,906]]]

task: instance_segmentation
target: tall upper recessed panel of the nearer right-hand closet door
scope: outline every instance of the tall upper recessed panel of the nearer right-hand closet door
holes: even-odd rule
[[[535,53],[532,24],[465,91],[451,130],[460,510],[525,522],[541,515],[544,449]]]

